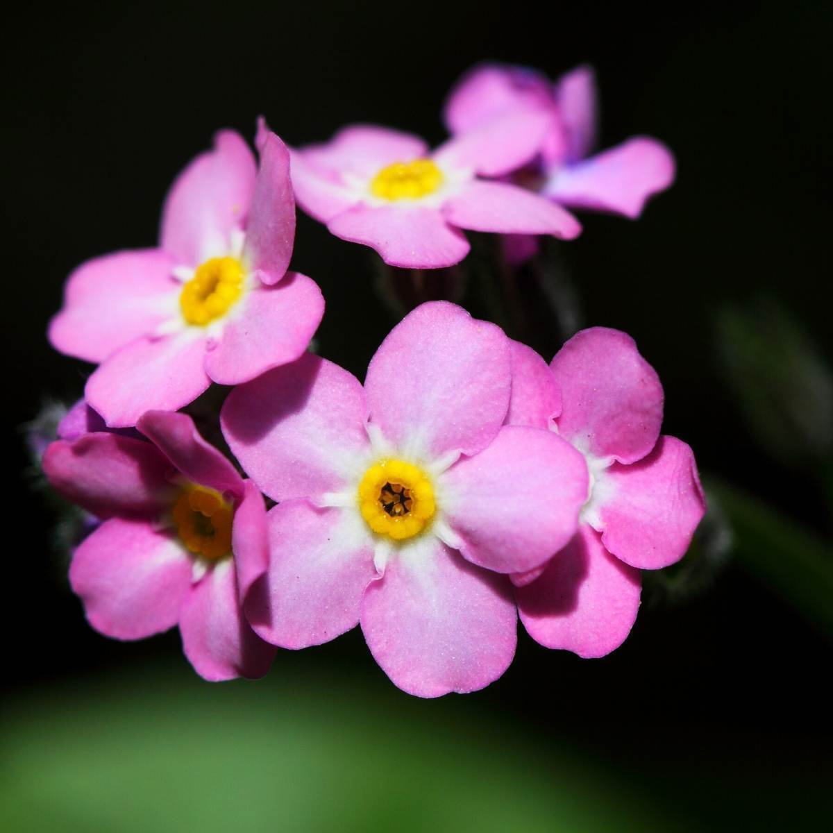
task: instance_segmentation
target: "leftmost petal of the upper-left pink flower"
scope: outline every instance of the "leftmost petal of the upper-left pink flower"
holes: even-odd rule
[[[153,332],[176,309],[172,266],[161,249],[116,252],[82,263],[67,279],[61,312],[49,322],[52,347],[97,363]]]

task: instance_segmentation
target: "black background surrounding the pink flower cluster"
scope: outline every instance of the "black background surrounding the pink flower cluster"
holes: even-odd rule
[[[761,580],[754,558],[730,554],[705,587],[673,603],[646,594],[630,638],[602,660],[546,651],[521,629],[506,675],[465,698],[421,702],[397,691],[357,632],[282,652],[263,683],[208,686],[177,656],[175,632],[125,645],[87,627],[52,546],[52,507],[24,471],[19,426],[44,397],[77,398],[89,372],[45,340],[67,273],[93,255],[152,245],[172,177],[218,127],[252,137],[263,113],[290,144],[324,140],[348,122],[440,142],[443,98],[472,63],[525,63],[554,77],[591,62],[601,146],[660,137],[679,172],[640,221],[584,215],[582,237],[562,247],[584,323],[636,338],[666,389],[665,431],[694,447],[707,476],[827,536],[830,496],[789,449],[770,453],[750,426],[721,368],[716,317],[767,297],[822,357],[833,353],[830,15],[811,3],[664,9],[238,2],[47,13],[32,4],[7,20],[2,419],[12,495],[2,561],[7,702],[18,717],[32,697],[106,699],[113,681],[144,686],[159,668],[172,691],[193,691],[209,709],[228,691],[245,709],[247,691],[268,691],[277,703],[297,681],[321,681],[310,688],[331,706],[327,698],[342,696],[357,709],[376,704],[374,731],[405,772],[412,747],[397,747],[386,726],[416,721],[426,736],[436,732],[437,757],[423,762],[439,778],[448,754],[453,761],[475,742],[458,729],[465,716],[472,736],[494,739],[488,754],[507,768],[518,737],[544,759],[567,749],[586,761],[590,781],[599,767],[666,821],[813,825],[831,775],[831,639],[777,581]],[[292,266],[327,297],[320,352],[362,377],[393,323],[373,292],[369,253],[299,213]],[[337,726],[360,719],[342,709]],[[158,756],[164,766],[162,749]],[[356,829],[376,829],[374,819]]]

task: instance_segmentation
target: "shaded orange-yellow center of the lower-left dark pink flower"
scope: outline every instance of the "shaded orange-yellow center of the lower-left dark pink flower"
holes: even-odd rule
[[[232,552],[234,509],[220,492],[190,483],[173,505],[182,543],[195,556],[217,561]]]

